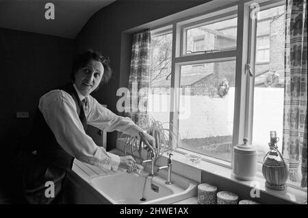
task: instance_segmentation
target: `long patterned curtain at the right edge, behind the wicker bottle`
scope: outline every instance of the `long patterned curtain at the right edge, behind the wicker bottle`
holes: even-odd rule
[[[290,180],[307,187],[307,0],[287,0],[285,14],[285,99],[283,158]]]

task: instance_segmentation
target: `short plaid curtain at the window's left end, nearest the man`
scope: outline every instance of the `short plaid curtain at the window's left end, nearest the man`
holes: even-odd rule
[[[125,111],[135,123],[146,117],[150,82],[151,32],[145,30],[133,35],[131,68],[129,74],[130,105]],[[139,95],[138,95],[139,94]]]

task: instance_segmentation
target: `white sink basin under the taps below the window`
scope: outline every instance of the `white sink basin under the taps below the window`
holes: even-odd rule
[[[172,174],[174,184],[165,184],[166,179],[160,175],[147,178],[146,175],[149,172],[143,171],[138,176],[117,171],[91,178],[89,182],[103,195],[107,204],[172,204],[197,195],[198,184],[175,173]]]

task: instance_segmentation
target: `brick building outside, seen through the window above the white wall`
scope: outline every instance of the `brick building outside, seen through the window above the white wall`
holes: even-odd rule
[[[257,23],[255,86],[283,87],[285,14],[283,10],[264,11]],[[186,53],[215,52],[236,45],[237,19],[194,27],[186,32]],[[171,71],[170,67],[166,71]],[[181,88],[191,95],[217,95],[222,81],[235,86],[235,61],[191,64],[181,67]],[[170,77],[154,87],[170,87]],[[164,93],[164,91],[163,91]]]

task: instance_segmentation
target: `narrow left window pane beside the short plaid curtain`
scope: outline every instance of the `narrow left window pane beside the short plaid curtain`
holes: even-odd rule
[[[148,112],[162,123],[170,118],[172,34],[151,37]],[[166,123],[164,128],[169,128]]]

